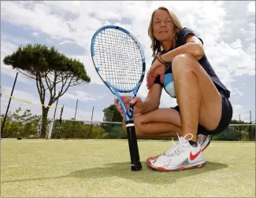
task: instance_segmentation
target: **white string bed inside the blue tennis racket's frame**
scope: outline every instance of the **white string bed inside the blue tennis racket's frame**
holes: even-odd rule
[[[129,35],[106,29],[95,38],[94,61],[102,79],[119,90],[132,90],[140,81],[142,49]]]

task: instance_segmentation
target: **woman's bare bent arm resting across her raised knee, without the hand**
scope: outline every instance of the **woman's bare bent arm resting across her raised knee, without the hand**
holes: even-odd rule
[[[174,57],[181,53],[191,53],[197,61],[200,60],[204,54],[202,42],[195,35],[187,35],[186,43],[183,46],[162,54],[161,58],[165,62],[173,62]]]

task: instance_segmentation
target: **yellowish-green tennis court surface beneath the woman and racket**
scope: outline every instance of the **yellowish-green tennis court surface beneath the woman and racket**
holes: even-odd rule
[[[159,172],[147,156],[172,141],[139,141],[143,170],[130,170],[127,140],[1,141],[1,196],[255,197],[255,142],[213,141],[205,167]]]

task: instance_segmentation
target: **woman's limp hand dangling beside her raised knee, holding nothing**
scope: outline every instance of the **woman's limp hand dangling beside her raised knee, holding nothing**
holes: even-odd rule
[[[147,89],[150,90],[154,84],[154,80],[160,75],[161,83],[164,83],[165,64],[162,64],[158,59],[151,65],[150,70],[147,72]]]

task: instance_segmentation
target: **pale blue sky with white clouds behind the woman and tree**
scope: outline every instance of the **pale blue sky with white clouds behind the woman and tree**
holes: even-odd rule
[[[64,105],[62,118],[102,121],[104,108],[113,104],[113,94],[102,83],[91,60],[91,38],[98,28],[117,25],[132,32],[143,46],[146,72],[152,61],[147,28],[154,9],[165,6],[202,38],[204,50],[217,76],[231,91],[233,118],[255,120],[255,2],[221,1],[5,1],[1,2],[1,92],[10,95],[17,70],[3,63],[3,58],[20,45],[54,46],[67,57],[84,64],[91,83],[72,86],[58,101]],[[139,97],[147,97],[146,79]],[[176,105],[176,99],[162,92],[160,108]],[[17,107],[41,113],[35,80],[19,73],[9,111]],[[1,114],[9,97],[1,98]],[[55,104],[54,104],[55,105]],[[60,115],[60,108],[56,117]],[[93,115],[92,115],[93,113]],[[49,118],[54,116],[50,108]]]

